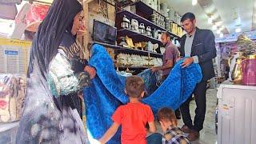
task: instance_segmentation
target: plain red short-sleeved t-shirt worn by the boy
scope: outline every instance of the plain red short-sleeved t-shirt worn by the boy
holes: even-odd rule
[[[153,122],[154,115],[150,106],[129,102],[115,110],[112,120],[122,125],[122,144],[146,144],[146,122]]]

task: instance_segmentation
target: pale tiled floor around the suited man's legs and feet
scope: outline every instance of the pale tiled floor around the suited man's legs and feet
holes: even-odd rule
[[[200,138],[192,144],[215,144],[217,143],[217,134],[215,134],[215,109],[216,109],[216,89],[206,91],[206,118],[204,128],[200,131]],[[190,102],[190,114],[194,119],[195,101]],[[183,126],[182,119],[178,121],[178,126]],[[162,134],[161,127],[157,124],[158,133]]]

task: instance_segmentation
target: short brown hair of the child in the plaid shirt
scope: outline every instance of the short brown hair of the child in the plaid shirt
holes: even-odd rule
[[[174,125],[178,125],[177,118],[174,114],[174,110],[171,110],[168,107],[163,107],[158,110],[158,121],[165,121],[165,122],[173,122]]]

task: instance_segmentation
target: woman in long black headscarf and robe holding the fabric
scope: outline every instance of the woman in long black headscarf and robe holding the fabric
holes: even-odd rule
[[[81,11],[77,0],[54,0],[38,27],[16,143],[86,143],[74,103],[95,70],[76,56],[81,51],[76,42]]]

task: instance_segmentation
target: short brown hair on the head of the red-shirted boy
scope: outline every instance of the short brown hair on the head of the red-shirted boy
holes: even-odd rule
[[[130,76],[126,78],[126,93],[129,97],[140,98],[144,91],[143,79],[138,76]]]

